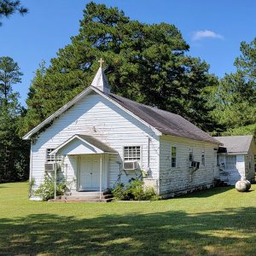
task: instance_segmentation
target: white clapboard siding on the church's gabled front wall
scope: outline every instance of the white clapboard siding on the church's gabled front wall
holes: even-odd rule
[[[116,183],[119,175],[119,162],[122,162],[124,146],[142,146],[142,168],[148,165],[148,137],[150,137],[150,167],[152,175],[159,177],[159,137],[154,131],[143,125],[121,108],[104,97],[92,93],[84,96],[73,108],[62,113],[54,123],[42,131],[32,145],[32,178],[36,187],[44,180],[44,163],[46,148],[57,148],[74,134],[85,134],[96,137],[102,143],[118,151],[118,155],[109,155],[108,187]],[[67,176],[75,177],[75,157],[65,159]],[[122,167],[122,166],[121,166]],[[134,176],[123,172],[121,182],[126,182]]]

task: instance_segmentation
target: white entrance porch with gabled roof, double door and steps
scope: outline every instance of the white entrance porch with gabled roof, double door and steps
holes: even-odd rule
[[[75,161],[73,173],[76,189],[68,192],[66,197],[74,196],[75,198],[82,196],[82,193],[84,193],[83,196],[87,193],[87,196],[90,197],[89,192],[94,192],[93,197],[98,197],[100,200],[105,196],[102,191],[108,189],[108,156],[109,154],[118,154],[113,148],[95,137],[76,134],[55,148],[51,154],[62,155],[64,159],[72,157]],[[97,196],[96,192],[98,192]],[[57,199],[56,196],[55,199]],[[63,199],[65,198],[63,197]]]

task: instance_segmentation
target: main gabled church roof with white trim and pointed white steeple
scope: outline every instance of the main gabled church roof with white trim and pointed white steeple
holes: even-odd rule
[[[62,108],[57,110],[48,119],[45,119],[40,125],[29,131],[23,139],[29,139],[40,131],[44,125],[49,124],[55,118],[71,108],[76,102],[79,102],[81,98],[88,95],[91,91],[95,91],[99,95],[105,97],[110,102],[113,102],[119,108],[122,108],[126,113],[131,114],[134,118],[141,121],[144,125],[150,127],[157,135],[172,135],[175,137],[185,137],[192,140],[199,140],[208,143],[220,144],[218,140],[208,135],[205,131],[191,124],[188,120],[183,119],[180,115],[170,113],[157,108],[152,108],[147,105],[133,102],[122,96],[117,96],[112,93],[108,93],[108,80],[102,70],[99,68],[96,73],[95,79],[92,81],[92,85],[82,91],[79,96],[73,98],[72,101],[68,102]]]

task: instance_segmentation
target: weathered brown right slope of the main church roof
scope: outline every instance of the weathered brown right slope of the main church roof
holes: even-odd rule
[[[207,132],[202,131],[178,114],[133,102],[112,93],[108,94],[108,96],[163,134],[220,144],[215,138],[208,135]]]

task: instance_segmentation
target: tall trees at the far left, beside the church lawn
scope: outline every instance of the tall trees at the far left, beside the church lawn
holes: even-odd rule
[[[28,176],[29,145],[18,136],[24,112],[12,85],[20,82],[20,68],[10,57],[0,58],[0,182]]]

